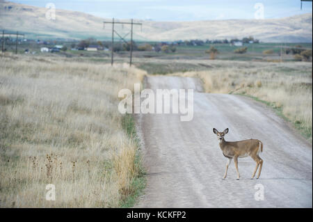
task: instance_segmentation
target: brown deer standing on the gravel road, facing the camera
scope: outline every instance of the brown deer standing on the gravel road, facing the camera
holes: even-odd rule
[[[238,158],[248,157],[250,156],[256,163],[255,171],[252,174],[251,180],[255,177],[255,173],[257,173],[257,168],[259,168],[259,173],[257,175],[257,179],[261,175],[262,166],[263,166],[263,159],[259,157],[259,152],[263,152],[263,143],[258,139],[247,139],[244,141],[225,141],[224,136],[228,133],[229,129],[225,129],[223,132],[218,132],[217,129],[213,129],[214,134],[217,135],[220,150],[222,150],[224,157],[227,158],[226,163],[226,171],[223,176],[223,180],[227,176],[228,166],[232,159],[234,159],[234,164],[237,172],[236,180],[239,180],[240,174],[238,169]]]

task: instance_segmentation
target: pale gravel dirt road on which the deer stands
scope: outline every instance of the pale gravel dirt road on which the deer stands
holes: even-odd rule
[[[182,122],[178,114],[137,114],[147,168],[137,207],[312,207],[312,145],[266,106],[239,95],[202,93],[198,79],[147,77],[145,88],[193,88],[194,116]],[[239,159],[240,180],[233,161],[222,180],[227,159],[213,127],[230,129],[226,141],[264,143],[259,180],[250,180],[250,157]],[[255,200],[258,186],[264,200]]]

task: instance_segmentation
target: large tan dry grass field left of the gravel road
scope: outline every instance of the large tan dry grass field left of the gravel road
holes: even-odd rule
[[[0,207],[118,207],[138,173],[118,90],[145,72],[12,55],[0,67]]]

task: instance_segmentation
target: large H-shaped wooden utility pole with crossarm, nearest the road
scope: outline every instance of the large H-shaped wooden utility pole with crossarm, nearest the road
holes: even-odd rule
[[[116,33],[118,35],[118,37],[120,37],[120,39],[122,39],[127,45],[129,44],[126,40],[125,37],[127,35],[129,35],[129,33],[127,33],[127,35],[125,35],[124,37],[122,37],[117,31],[115,31],[114,29],[114,24],[122,24],[122,26],[124,26],[124,24],[130,24],[131,25],[131,42],[130,42],[130,60],[129,60],[129,65],[131,66],[132,63],[132,56],[133,56],[133,26],[134,25],[140,25],[142,26],[143,24],[141,23],[136,23],[134,22],[134,19],[131,19],[131,22],[115,22],[114,18],[112,19],[112,22],[103,22],[104,24],[112,24],[112,45],[111,45],[111,65],[113,65],[113,51],[114,51],[114,33]]]

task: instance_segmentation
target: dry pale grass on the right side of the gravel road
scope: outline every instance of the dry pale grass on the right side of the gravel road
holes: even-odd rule
[[[209,65],[217,68],[175,75],[199,77],[207,93],[246,94],[270,102],[312,143],[312,63],[211,61]]]

